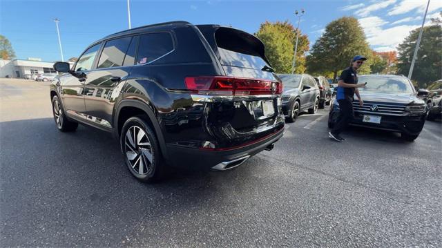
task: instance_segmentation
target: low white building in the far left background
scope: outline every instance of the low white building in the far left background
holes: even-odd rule
[[[39,58],[0,59],[0,77],[20,78],[26,74],[55,74],[54,62],[41,61]]]

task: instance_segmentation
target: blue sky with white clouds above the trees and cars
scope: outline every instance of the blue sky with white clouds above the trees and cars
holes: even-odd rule
[[[356,17],[367,41],[377,51],[396,50],[410,31],[419,28],[426,0],[292,0],[292,1],[140,1],[131,0],[132,28],[164,21],[215,23],[257,32],[265,21],[298,23],[295,10],[305,10],[300,30],[310,44],[330,21]],[[442,0],[431,0],[427,21],[442,11]],[[59,61],[58,18],[64,59],[78,57],[97,39],[128,29],[126,0],[12,1],[0,0],[0,34],[6,36],[17,59],[38,57]]]

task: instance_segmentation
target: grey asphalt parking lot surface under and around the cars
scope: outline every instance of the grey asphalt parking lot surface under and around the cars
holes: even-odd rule
[[[111,134],[55,128],[48,84],[0,79],[1,247],[442,247],[442,123],[415,142],[328,108],[231,171],[135,180]]]

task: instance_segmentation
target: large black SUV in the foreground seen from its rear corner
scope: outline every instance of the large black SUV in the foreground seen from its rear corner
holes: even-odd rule
[[[270,150],[284,130],[282,83],[253,35],[185,21],[94,42],[50,86],[60,131],[77,123],[119,138],[128,169],[148,182],[166,164],[230,169]]]

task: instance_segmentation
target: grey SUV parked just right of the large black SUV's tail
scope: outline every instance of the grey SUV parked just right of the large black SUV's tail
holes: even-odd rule
[[[282,113],[287,122],[295,122],[302,111],[314,114],[319,107],[319,88],[313,77],[307,74],[279,74],[284,84]]]

